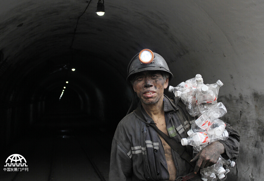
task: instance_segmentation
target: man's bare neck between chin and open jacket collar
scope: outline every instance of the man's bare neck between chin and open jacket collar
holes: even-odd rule
[[[164,115],[164,105],[163,105],[164,96],[160,98],[160,100],[155,104],[145,104],[141,102],[142,107],[146,111],[146,113],[154,120],[156,116]],[[155,120],[154,120],[155,121]]]

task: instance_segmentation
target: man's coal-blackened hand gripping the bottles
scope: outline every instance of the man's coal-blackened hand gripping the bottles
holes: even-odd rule
[[[192,160],[196,162],[194,173],[197,174],[200,168],[212,166],[217,162],[220,155],[224,153],[224,145],[219,141],[212,142],[204,147]]]

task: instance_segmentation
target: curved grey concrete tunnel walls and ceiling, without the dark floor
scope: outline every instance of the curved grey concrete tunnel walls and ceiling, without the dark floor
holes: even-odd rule
[[[238,178],[233,169],[227,180],[262,180],[263,1],[113,0],[105,1],[102,17],[94,13],[96,3],[80,17],[74,36],[87,1],[1,2],[1,147],[36,119],[52,118],[41,111],[43,101],[53,91],[60,94],[65,77],[75,81],[71,95],[83,102],[79,116],[116,126],[132,99],[128,62],[149,48],[167,61],[170,85],[197,73],[205,83],[224,83],[218,100],[227,108],[223,120],[241,134]]]

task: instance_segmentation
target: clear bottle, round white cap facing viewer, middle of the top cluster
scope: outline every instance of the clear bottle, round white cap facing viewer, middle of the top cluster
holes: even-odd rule
[[[216,104],[217,99],[212,90],[207,85],[201,87],[201,92],[195,95],[197,99],[197,105],[199,104]]]

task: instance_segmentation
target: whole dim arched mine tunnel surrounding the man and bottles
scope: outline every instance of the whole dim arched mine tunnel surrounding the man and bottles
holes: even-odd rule
[[[108,180],[113,135],[133,100],[127,66],[145,48],[166,60],[169,85],[198,73],[223,82],[222,119],[241,136],[226,180],[262,180],[264,2],[105,0],[103,16],[97,3],[0,3],[0,180]],[[12,154],[28,171],[3,170]]]

